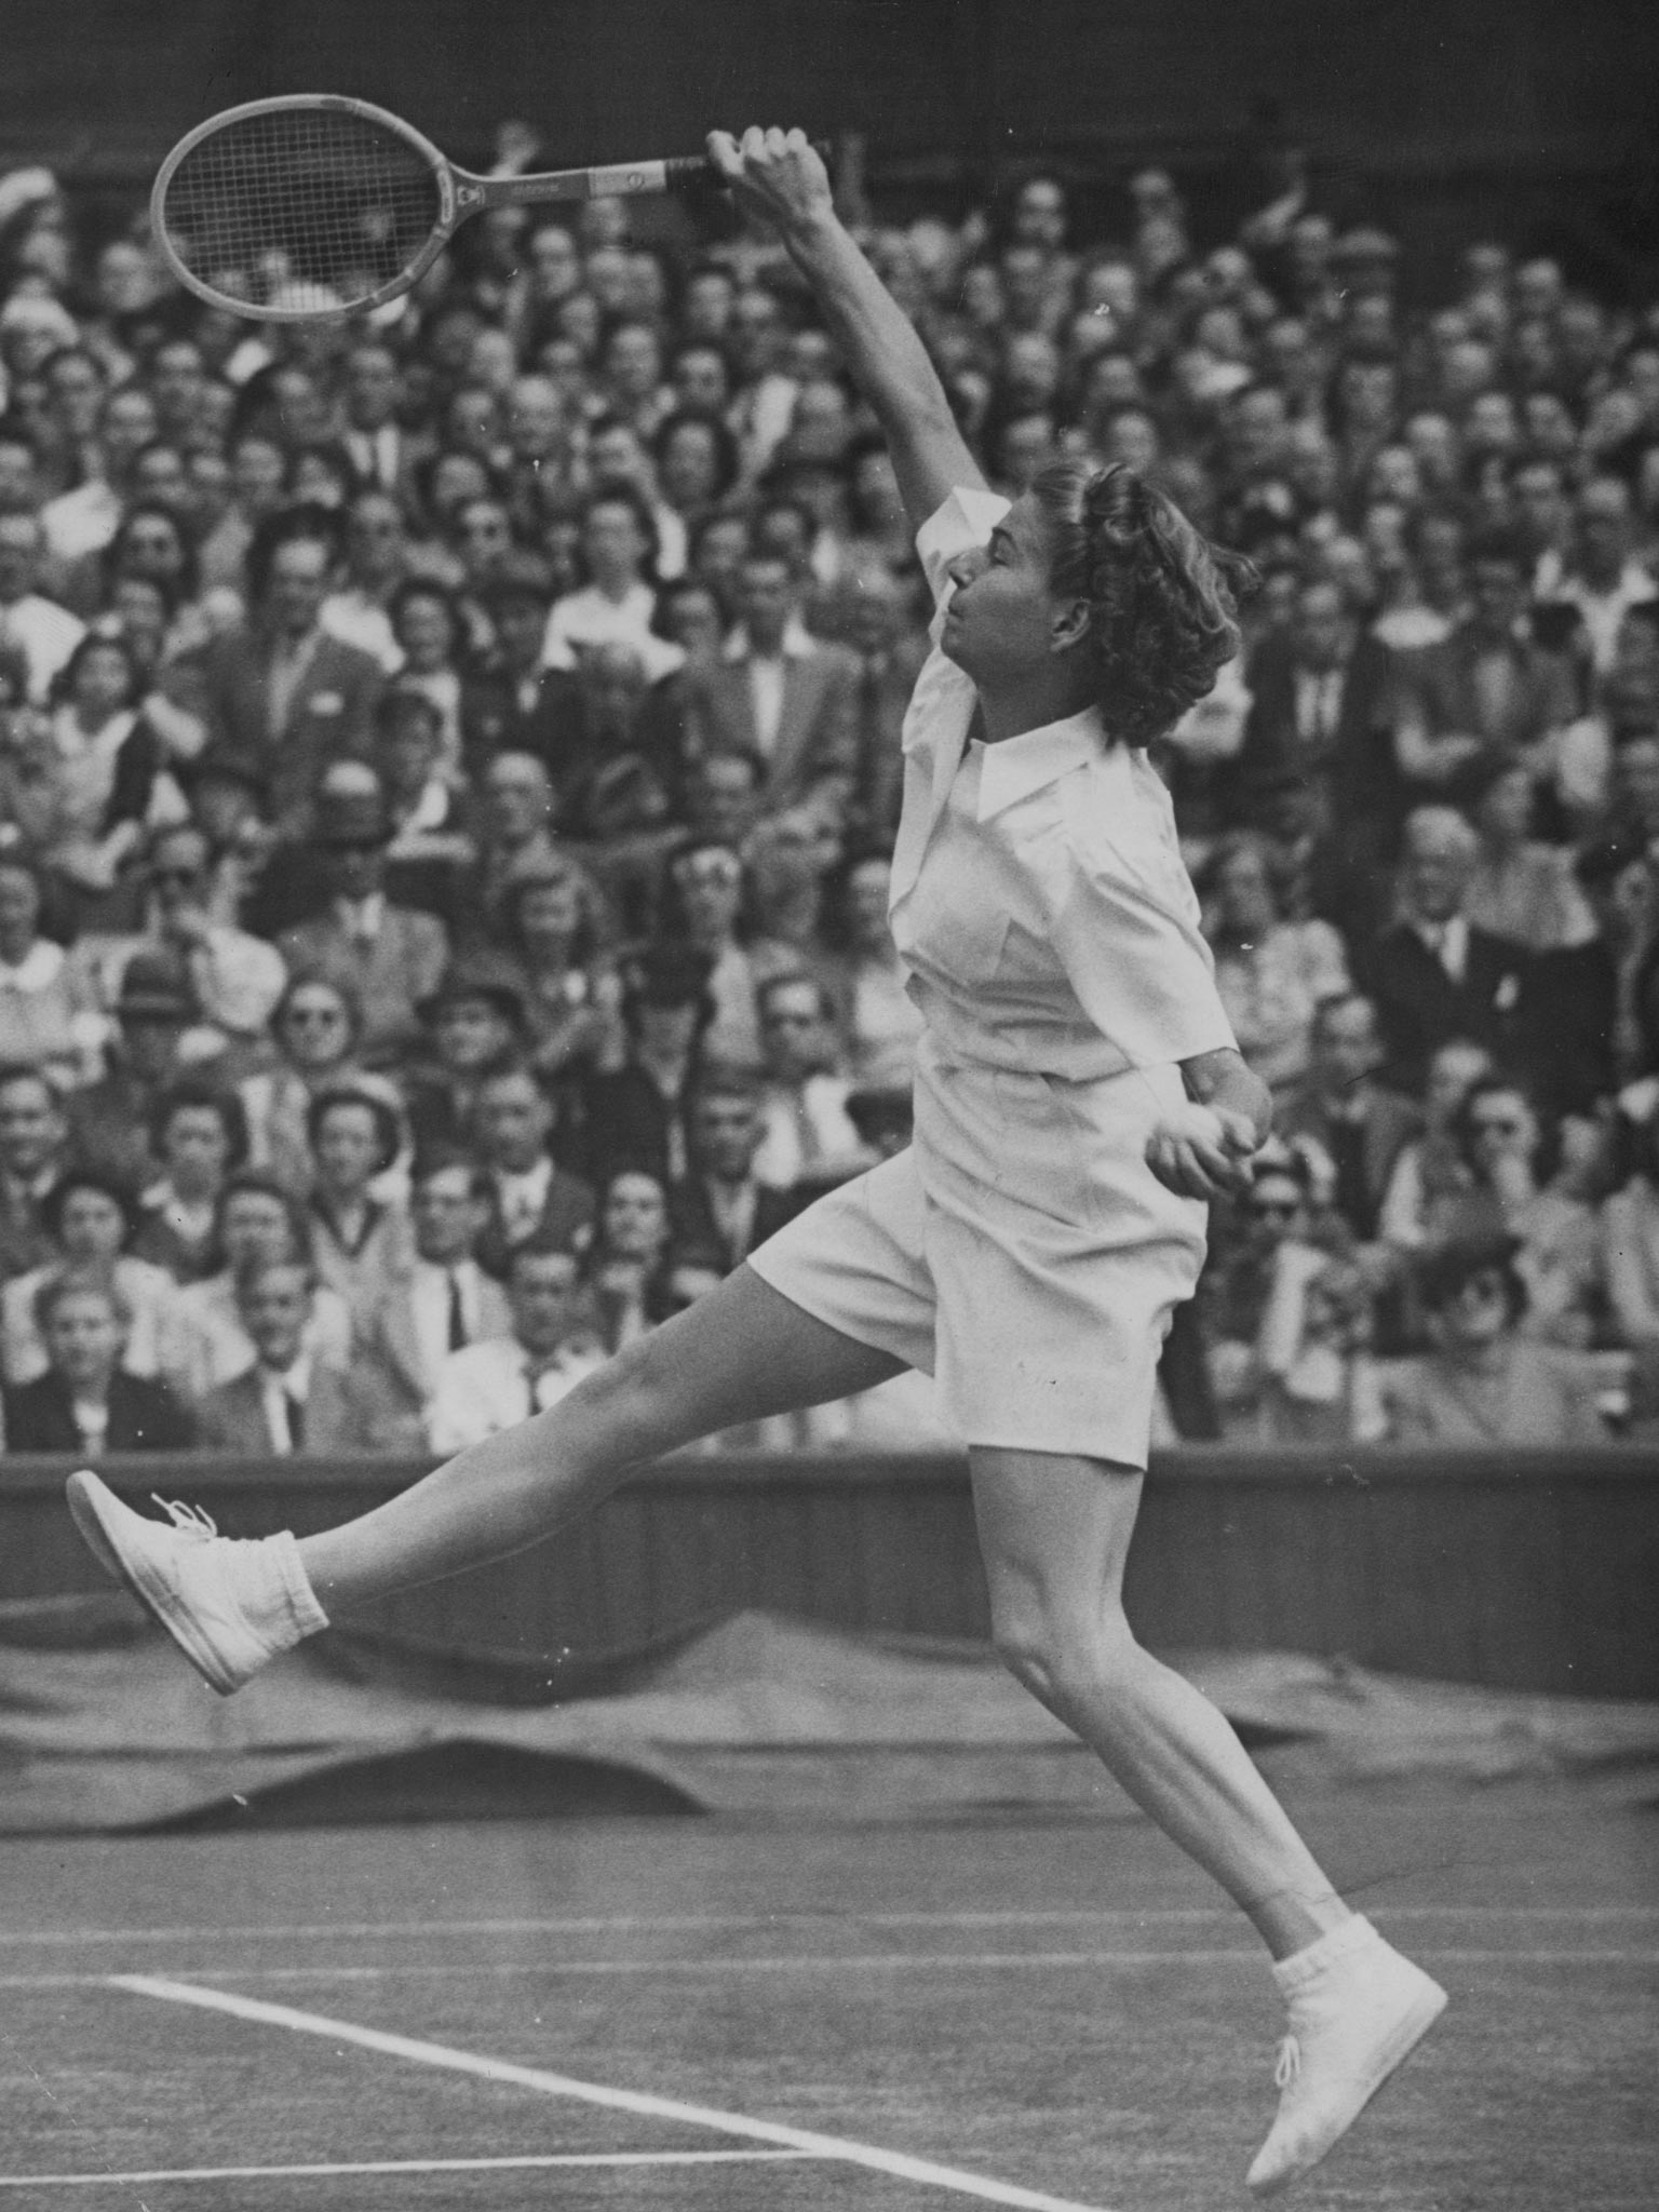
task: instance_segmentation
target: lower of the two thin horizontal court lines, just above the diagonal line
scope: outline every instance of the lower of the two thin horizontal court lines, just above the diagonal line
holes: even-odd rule
[[[1659,1966],[1659,1951],[1504,1951],[1418,1944],[1416,1955],[1442,1966]],[[533,1960],[465,1960],[453,1966],[184,1966],[192,1984],[263,1982],[467,1982],[511,1980],[518,1975],[591,1975],[591,1978],[661,1978],[661,1975],[768,1975],[768,1973],[920,1973],[927,1969],[960,1969],[964,1973],[1002,1973],[1026,1966],[1051,1971],[1110,1966],[1261,1966],[1259,1949],[1250,1951],[810,1951],[801,1958],[533,1958]],[[0,1989],[106,1989],[111,1973],[0,1973]]]

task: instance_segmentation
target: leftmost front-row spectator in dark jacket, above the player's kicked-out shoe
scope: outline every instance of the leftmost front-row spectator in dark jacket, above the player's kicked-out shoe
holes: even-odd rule
[[[0,1391],[7,1451],[188,1451],[195,1422],[166,1383],[131,1374],[126,1298],[108,1270],[51,1274],[35,1294],[46,1371]]]

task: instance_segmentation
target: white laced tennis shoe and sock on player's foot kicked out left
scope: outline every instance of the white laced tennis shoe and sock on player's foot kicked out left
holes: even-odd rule
[[[69,1478],[66,1495],[104,1573],[148,1606],[221,1697],[327,1628],[290,1533],[223,1537],[199,1506],[166,1498],[155,1502],[168,1520],[146,1520],[86,1469]]]

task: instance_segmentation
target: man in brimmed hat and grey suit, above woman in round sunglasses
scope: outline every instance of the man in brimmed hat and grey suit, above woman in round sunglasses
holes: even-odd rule
[[[330,905],[285,929],[276,949],[290,973],[319,969],[349,984],[363,1006],[363,1060],[398,1060],[420,1037],[416,1009],[449,958],[436,914],[396,907],[385,896],[392,818],[380,779],[363,761],[341,761],[316,794],[316,834]]]

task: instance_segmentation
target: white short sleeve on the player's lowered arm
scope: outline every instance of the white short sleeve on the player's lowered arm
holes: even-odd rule
[[[1135,1068],[1237,1051],[1210,947],[1152,863],[1137,867],[1115,849],[1097,856],[1064,834],[1060,843],[1053,945],[1095,1029]]]

